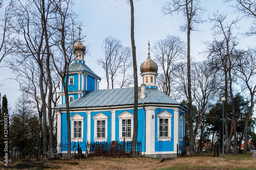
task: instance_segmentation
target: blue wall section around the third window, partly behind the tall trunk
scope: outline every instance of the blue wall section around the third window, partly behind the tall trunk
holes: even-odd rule
[[[121,142],[119,140],[119,118],[118,116],[123,113],[123,112],[129,112],[131,114],[134,114],[134,110],[117,110],[116,111],[116,130],[115,130],[115,140],[118,142]],[[146,134],[145,134],[146,135]],[[143,109],[138,109],[138,137],[137,137],[137,141],[142,141],[142,146],[144,145],[144,110]],[[142,152],[144,152],[144,148],[142,147]]]

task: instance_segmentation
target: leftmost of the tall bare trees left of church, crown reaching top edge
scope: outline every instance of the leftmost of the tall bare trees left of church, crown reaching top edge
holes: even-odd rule
[[[38,109],[40,125],[42,125],[42,137],[43,142],[47,143],[47,106],[51,105],[51,103],[46,102],[47,93],[48,93],[48,78],[51,78],[51,75],[47,75],[45,62],[46,62],[46,48],[47,45],[45,43],[45,33],[44,33],[44,25],[42,22],[42,12],[47,13],[49,15],[49,11],[42,10],[42,4],[40,1],[29,1],[27,4],[23,4],[24,2],[19,1],[17,4],[13,15],[16,16],[13,22],[12,29],[19,33],[20,39],[14,39],[13,44],[17,48],[17,56],[19,58],[15,59],[16,53],[14,53],[16,60],[12,64],[11,67],[14,70],[19,70],[18,73],[20,75],[25,76],[26,79],[29,79],[30,84],[27,84],[26,91],[31,95],[34,95],[35,101],[40,99],[41,101],[37,101],[37,103],[41,103],[41,108]],[[18,36],[19,38],[19,36]],[[49,45],[48,45],[49,46]],[[20,56],[22,58],[20,58]],[[34,68],[38,68],[38,75],[33,74],[34,68],[30,66],[30,64],[26,65],[27,61],[30,62],[31,59],[37,63],[37,66]],[[26,62],[25,62],[26,61]],[[18,68],[18,66],[22,66]],[[51,69],[51,68],[49,68]],[[36,69],[37,70],[37,69]],[[29,73],[30,71],[31,73]],[[50,73],[50,72],[48,72]],[[35,78],[38,76],[37,78]],[[39,82],[40,95],[37,95],[35,89],[35,83]],[[31,86],[33,85],[33,86]],[[51,99],[51,97],[50,97]],[[39,105],[38,105],[39,106]],[[48,108],[49,110],[49,108]],[[42,115],[41,115],[41,114]],[[50,111],[51,113],[51,111]],[[42,118],[40,117],[42,116]],[[50,116],[51,117],[51,116]],[[47,154],[47,148],[44,148],[44,154]]]

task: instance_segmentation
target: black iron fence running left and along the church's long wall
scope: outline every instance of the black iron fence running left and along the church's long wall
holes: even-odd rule
[[[71,144],[71,159],[90,159],[95,156],[124,157],[141,155],[141,141],[137,141],[133,152],[132,141],[74,142]],[[20,149],[10,147],[9,159],[15,161],[39,161],[44,159],[68,158],[68,143],[54,145],[38,144]]]

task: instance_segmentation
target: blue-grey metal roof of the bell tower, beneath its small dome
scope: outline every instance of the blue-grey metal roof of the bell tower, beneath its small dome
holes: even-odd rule
[[[72,72],[77,72],[77,71],[84,71],[87,74],[101,80],[100,77],[98,77],[91,68],[89,68],[86,64],[82,64],[81,62],[73,63],[69,66],[69,73],[72,74]]]

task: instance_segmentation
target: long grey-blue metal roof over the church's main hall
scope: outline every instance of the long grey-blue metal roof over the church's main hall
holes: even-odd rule
[[[147,88],[145,90],[146,97],[140,99],[140,91],[138,91],[138,104],[174,104],[181,105],[161,91],[155,88]],[[118,106],[118,105],[133,105],[134,104],[134,88],[117,88],[94,90],[87,93],[85,96],[73,100],[69,103],[70,108],[84,107],[103,107],[103,106]],[[66,104],[55,107],[66,108]]]

